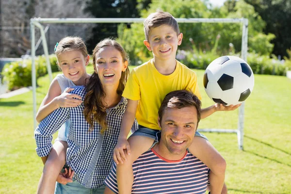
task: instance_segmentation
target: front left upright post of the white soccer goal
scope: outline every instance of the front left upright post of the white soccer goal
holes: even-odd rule
[[[35,32],[33,22],[30,22],[31,25],[31,39],[32,39],[32,104],[33,104],[33,129],[36,128],[36,73],[35,73]]]

